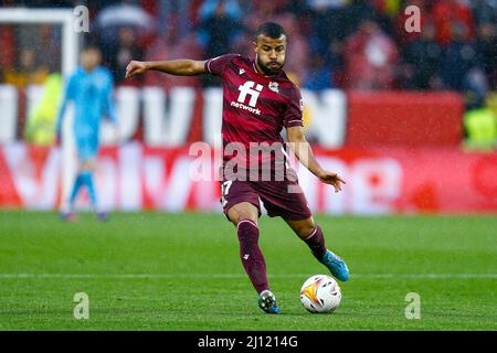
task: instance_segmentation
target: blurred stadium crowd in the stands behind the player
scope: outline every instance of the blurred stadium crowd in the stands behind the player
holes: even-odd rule
[[[497,97],[495,0],[0,0],[0,4],[86,6],[91,21],[85,41],[102,49],[118,85],[166,90],[176,85],[219,85],[210,77],[154,73],[124,81],[124,73],[131,58],[251,55],[247,43],[254,29],[272,20],[287,31],[285,69],[303,88],[455,90],[464,94],[468,109]],[[408,6],[421,10],[420,32],[405,30]],[[18,86],[42,82],[60,67],[55,60],[60,55],[54,54],[60,35],[50,25],[31,30],[4,25],[1,82]],[[43,57],[36,57],[40,51],[33,47],[43,47]]]

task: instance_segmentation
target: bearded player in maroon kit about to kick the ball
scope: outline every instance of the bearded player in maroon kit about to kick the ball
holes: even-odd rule
[[[253,45],[254,60],[239,54],[226,54],[207,61],[131,61],[126,68],[126,77],[152,69],[179,76],[211,74],[223,79],[223,210],[236,226],[240,258],[258,293],[260,308],[267,313],[279,313],[276,298],[267,282],[264,256],[258,247],[260,200],[267,214],[272,217],[281,216],[331,275],[346,281],[349,271],[346,263],[326,248],[322,231],[315,223],[298,180],[292,176],[295,171],[288,168],[286,160],[278,163],[276,158],[266,156],[266,162],[272,165],[269,181],[261,178],[264,173],[260,171],[256,172],[255,181],[252,174],[250,180],[240,178],[240,170],[251,168],[246,168],[247,163],[234,163],[241,167],[231,170],[233,160],[240,162],[246,159],[245,162],[252,167],[251,163],[254,158],[258,158],[258,152],[252,153],[251,147],[257,143],[277,146],[273,149],[277,152],[278,146],[284,143],[281,132],[286,128],[287,141],[300,163],[321,182],[332,185],[335,192],[341,190],[345,181],[337,173],[326,171],[319,165],[303,132],[300,92],[283,71],[287,46],[284,29],[273,22],[262,24]],[[235,157],[233,150],[237,151]],[[267,164],[261,158],[257,165],[258,162]],[[282,168],[284,178],[275,180]],[[236,178],[232,178],[233,171]]]

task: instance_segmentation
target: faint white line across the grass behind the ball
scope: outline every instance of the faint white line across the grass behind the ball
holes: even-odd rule
[[[269,278],[307,278],[311,274],[268,275]],[[245,274],[0,274],[0,279],[175,279],[245,278]],[[351,274],[351,279],[497,279],[497,274]]]

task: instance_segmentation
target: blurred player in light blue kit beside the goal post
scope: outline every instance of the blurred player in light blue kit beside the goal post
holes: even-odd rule
[[[80,56],[81,66],[67,81],[64,98],[59,111],[56,133],[61,140],[66,107],[74,104],[73,132],[76,141],[78,171],[68,199],[68,208],[62,210],[61,217],[75,220],[74,202],[82,186],[89,193],[92,208],[98,220],[107,220],[107,213],[97,208],[94,185],[94,170],[98,152],[99,128],[103,116],[116,126],[116,110],[113,101],[114,82],[110,73],[101,66],[102,54],[98,47],[87,46]]]

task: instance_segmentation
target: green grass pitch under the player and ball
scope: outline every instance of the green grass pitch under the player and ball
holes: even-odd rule
[[[497,330],[496,216],[317,215],[348,263],[342,301],[311,314],[304,280],[326,268],[279,218],[261,247],[281,315],[264,314],[220,214],[0,213],[0,330]],[[89,319],[76,320],[85,292]],[[409,292],[421,319],[408,320]]]

